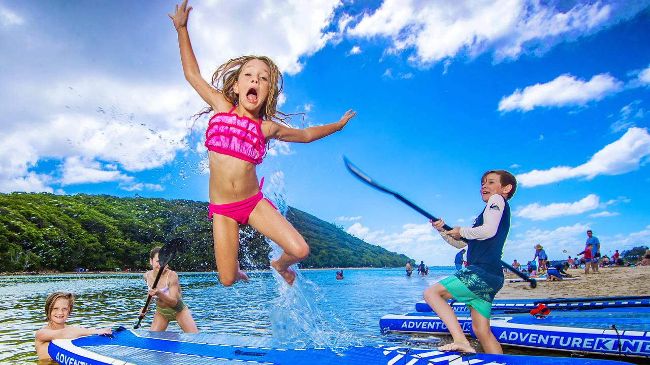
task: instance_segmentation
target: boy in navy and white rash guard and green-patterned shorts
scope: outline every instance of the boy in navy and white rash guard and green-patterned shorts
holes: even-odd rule
[[[497,338],[489,327],[494,296],[503,286],[500,259],[503,245],[510,231],[508,199],[517,190],[517,180],[508,171],[487,171],[481,178],[481,195],[487,203],[472,227],[454,227],[445,231],[443,220],[432,221],[448,244],[461,248],[467,245],[467,268],[429,286],[424,290],[424,301],[447,325],[454,338],[452,344],[439,347],[440,351],[476,352],[469,344],[447,299],[463,301],[472,315],[476,338],[486,353],[503,353]]]

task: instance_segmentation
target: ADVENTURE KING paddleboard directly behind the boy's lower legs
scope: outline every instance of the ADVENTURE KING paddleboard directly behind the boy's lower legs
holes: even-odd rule
[[[650,312],[623,309],[556,310],[545,318],[493,311],[490,327],[503,345],[650,357]],[[474,336],[470,312],[456,316],[463,332]],[[383,316],[380,327],[393,332],[448,333],[439,317],[421,312]]]

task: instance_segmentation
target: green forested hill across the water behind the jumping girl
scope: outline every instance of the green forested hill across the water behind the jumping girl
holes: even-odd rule
[[[175,270],[214,270],[207,204],[110,195],[0,194],[0,272],[144,269],[149,250],[183,237]],[[295,208],[287,218],[311,249],[302,267],[404,266],[404,255],[370,245],[331,223]],[[242,227],[245,269],[268,267],[270,247],[252,227]]]

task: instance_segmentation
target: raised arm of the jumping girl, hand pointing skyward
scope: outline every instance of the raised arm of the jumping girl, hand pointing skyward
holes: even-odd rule
[[[185,0],[181,6],[176,5],[174,15],[168,14],[174,21],[174,28],[178,32],[178,46],[181,50],[181,63],[183,64],[185,79],[198,92],[201,99],[208,103],[215,112],[224,110],[229,107],[226,99],[201,77],[199,64],[196,62],[196,56],[194,56],[194,50],[192,50],[190,34],[187,31],[187,19],[190,16],[190,10],[192,10],[192,6],[187,7],[187,0]]]

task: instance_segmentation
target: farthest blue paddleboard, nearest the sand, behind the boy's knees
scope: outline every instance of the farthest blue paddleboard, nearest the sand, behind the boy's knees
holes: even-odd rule
[[[447,301],[454,312],[467,310],[465,303],[460,301]],[[602,307],[649,307],[650,297],[597,297],[597,298],[556,298],[556,299],[495,299],[492,310],[536,308],[538,303],[543,303],[549,308],[602,308]],[[415,303],[417,312],[431,312],[431,307],[425,301]]]

